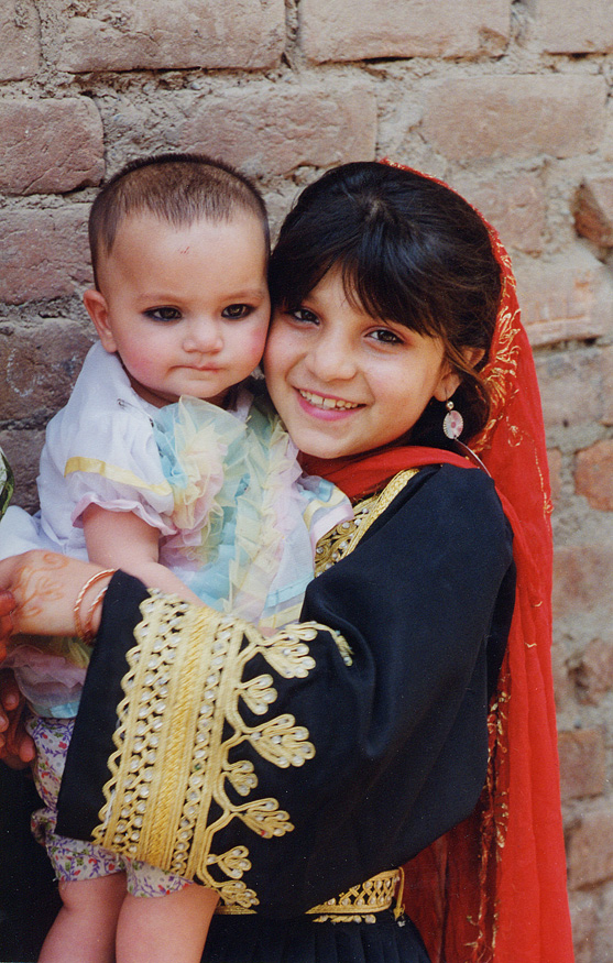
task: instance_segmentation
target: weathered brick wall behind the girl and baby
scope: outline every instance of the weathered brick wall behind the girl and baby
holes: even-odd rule
[[[464,193],[512,250],[556,512],[554,665],[578,963],[613,961],[611,0],[2,0],[0,445],[34,504],[91,339],[88,204],[164,149],[255,176],[278,223],[382,155]]]

